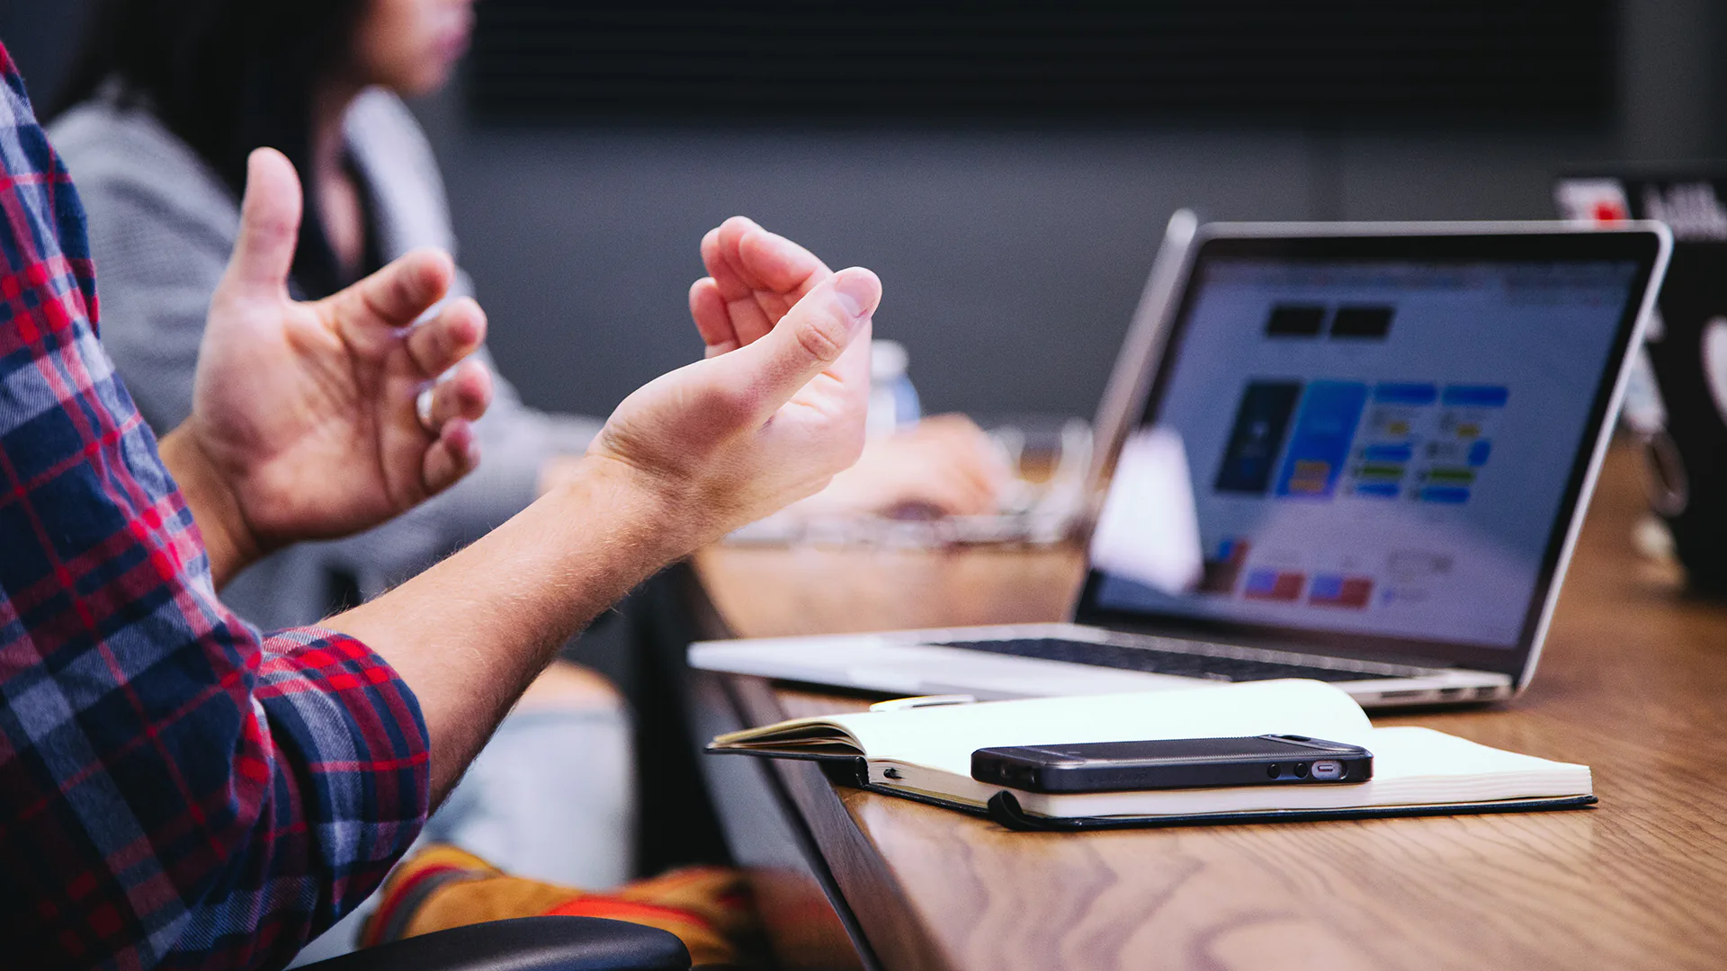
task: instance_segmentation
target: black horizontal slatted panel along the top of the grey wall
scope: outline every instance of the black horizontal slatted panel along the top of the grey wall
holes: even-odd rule
[[[1601,121],[1611,0],[485,0],[480,121]]]

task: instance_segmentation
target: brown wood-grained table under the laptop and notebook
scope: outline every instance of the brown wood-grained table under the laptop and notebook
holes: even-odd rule
[[[1041,835],[836,786],[812,764],[710,757],[781,959],[1727,968],[1727,610],[1632,549],[1637,475],[1616,447],[1521,698],[1375,719],[1585,762],[1597,809]],[[696,562],[710,625],[741,636],[1050,620],[1079,570],[1074,551],[724,548]],[[691,698],[698,738],[864,703],[705,674]]]

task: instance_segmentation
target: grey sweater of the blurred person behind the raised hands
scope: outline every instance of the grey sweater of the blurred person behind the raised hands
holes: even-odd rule
[[[344,130],[373,199],[380,254],[394,259],[421,245],[454,252],[444,183],[408,107],[366,92]],[[238,200],[155,116],[111,97],[73,109],[48,135],[90,216],[102,342],[143,418],[166,434],[192,411],[204,316],[240,226]],[[456,290],[470,292],[466,275],[458,276]],[[263,627],[313,624],[330,608],[337,574],[352,575],[370,598],[527,506],[541,463],[585,449],[599,422],[535,411],[501,375],[494,387],[477,427],[480,468],[466,480],[361,536],[276,553],[237,577],[223,600]]]

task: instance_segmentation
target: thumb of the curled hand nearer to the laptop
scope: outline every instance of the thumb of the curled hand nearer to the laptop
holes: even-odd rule
[[[834,366],[881,304],[881,280],[853,266],[817,283],[763,337],[715,358],[755,385],[770,409]],[[860,375],[860,377],[867,377]]]

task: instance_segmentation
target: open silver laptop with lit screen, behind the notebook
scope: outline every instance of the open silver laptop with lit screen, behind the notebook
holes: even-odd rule
[[[1136,333],[1138,420],[1072,622],[712,641],[689,663],[893,695],[1316,677],[1364,707],[1508,698],[1670,247],[1654,223],[1202,226]],[[1133,517],[1110,508],[1169,505],[1126,473],[1140,439],[1178,444],[1183,582],[1112,532]]]

